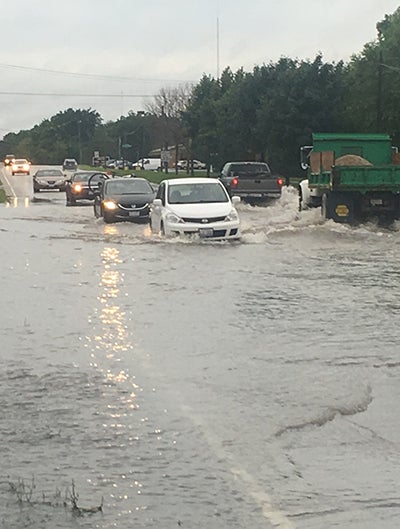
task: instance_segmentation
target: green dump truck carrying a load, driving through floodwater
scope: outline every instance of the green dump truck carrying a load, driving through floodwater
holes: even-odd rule
[[[400,218],[400,155],[388,134],[314,133],[301,148],[300,209],[335,222]]]

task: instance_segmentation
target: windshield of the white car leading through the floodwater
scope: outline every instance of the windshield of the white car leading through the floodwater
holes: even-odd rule
[[[168,188],[170,204],[200,204],[203,202],[228,202],[224,188],[217,182],[174,184]]]

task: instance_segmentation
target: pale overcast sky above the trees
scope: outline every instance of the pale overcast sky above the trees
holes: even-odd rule
[[[0,138],[67,108],[104,121],[160,88],[280,57],[349,60],[395,0],[0,0]],[[219,45],[218,45],[219,43]],[[219,67],[219,69],[218,69]],[[16,95],[20,93],[22,95]],[[37,95],[41,94],[41,95]],[[136,96],[136,97],[133,97]]]

